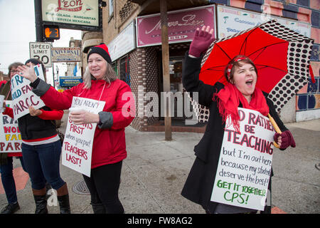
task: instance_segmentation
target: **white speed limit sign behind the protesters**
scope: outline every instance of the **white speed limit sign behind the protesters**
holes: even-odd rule
[[[38,58],[46,68],[52,66],[51,61],[51,43],[46,42],[30,42],[30,58]]]

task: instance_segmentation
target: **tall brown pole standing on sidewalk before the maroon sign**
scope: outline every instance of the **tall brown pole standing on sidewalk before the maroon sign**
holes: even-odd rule
[[[170,75],[169,75],[169,38],[168,38],[168,16],[167,16],[166,0],[160,1],[161,14],[161,48],[162,48],[162,69],[164,80],[164,92],[170,92]],[[164,102],[165,105],[171,105],[171,96],[169,96],[169,103]],[[171,117],[169,115],[171,108],[166,107],[164,113],[164,130],[165,140],[172,140],[171,135]],[[170,113],[171,114],[171,113]]]

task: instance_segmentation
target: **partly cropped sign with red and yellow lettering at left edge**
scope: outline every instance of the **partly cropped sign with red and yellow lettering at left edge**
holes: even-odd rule
[[[6,105],[10,107],[12,100],[6,100]],[[21,142],[18,121],[0,113],[0,152],[21,152]]]

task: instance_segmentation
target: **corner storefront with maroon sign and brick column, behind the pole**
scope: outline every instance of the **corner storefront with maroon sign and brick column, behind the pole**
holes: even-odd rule
[[[203,124],[192,115],[190,101],[182,86],[183,59],[196,28],[215,27],[215,6],[171,11],[169,17],[169,74],[171,124],[173,131],[203,132]],[[137,17],[108,45],[112,66],[122,81],[128,83],[136,97],[137,116],[132,125],[138,130],[163,130],[164,86],[159,14]],[[132,43],[137,38],[136,43]],[[131,43],[130,43],[131,42]],[[117,43],[117,46],[115,45]],[[121,47],[121,53],[119,48]],[[124,51],[124,48],[126,50]],[[186,109],[188,111],[186,111]],[[186,115],[187,113],[187,115]]]

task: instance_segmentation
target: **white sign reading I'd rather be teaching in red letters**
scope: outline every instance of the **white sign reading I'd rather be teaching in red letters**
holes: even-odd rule
[[[255,110],[238,108],[240,133],[226,121],[211,201],[263,210],[270,180],[274,128]]]

